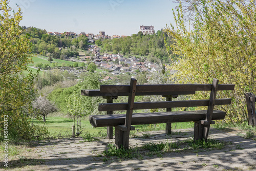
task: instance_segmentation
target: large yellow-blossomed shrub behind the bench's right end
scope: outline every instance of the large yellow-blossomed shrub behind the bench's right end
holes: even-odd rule
[[[256,69],[256,6],[253,1],[199,1],[195,5],[193,30],[185,26],[182,4],[174,13],[176,28],[165,31],[175,44],[168,46],[180,55],[173,62],[175,77],[184,83],[236,84],[235,91],[217,93],[219,98],[232,98],[231,105],[221,106],[227,112],[227,122],[241,123],[247,119],[244,94],[255,92]],[[209,94],[209,93],[207,93]],[[198,94],[198,96],[207,96]]]

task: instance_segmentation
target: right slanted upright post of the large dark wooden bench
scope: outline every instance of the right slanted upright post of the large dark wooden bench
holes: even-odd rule
[[[214,112],[214,105],[215,105],[215,99],[216,99],[216,94],[217,94],[217,90],[218,90],[218,85],[219,84],[219,80],[214,78],[212,80],[212,89],[210,92],[210,103],[208,106],[208,110],[207,110],[207,115],[205,117],[205,120],[208,121],[209,123],[211,123],[211,118]],[[210,129],[210,124],[204,125],[204,140],[207,141],[208,138],[208,134],[209,134],[209,129]]]

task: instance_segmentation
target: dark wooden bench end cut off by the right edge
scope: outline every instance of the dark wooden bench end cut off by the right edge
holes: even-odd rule
[[[255,113],[255,95],[252,93],[246,93],[245,99],[248,111],[248,123],[249,125],[256,125],[256,113]]]

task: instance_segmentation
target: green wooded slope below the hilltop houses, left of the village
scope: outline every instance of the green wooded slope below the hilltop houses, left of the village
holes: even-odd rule
[[[88,37],[85,35],[77,38],[62,35],[61,37],[47,34],[46,30],[23,27],[24,34],[30,37],[31,52],[56,59],[65,59],[78,56],[77,49],[86,50]]]

